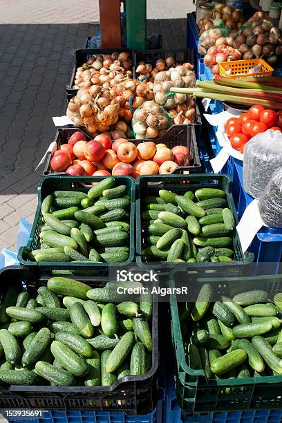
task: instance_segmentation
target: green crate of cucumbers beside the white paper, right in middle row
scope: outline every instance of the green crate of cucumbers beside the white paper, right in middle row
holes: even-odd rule
[[[153,175],[140,176],[136,181],[136,262],[139,266],[158,267],[161,270],[173,269],[181,264],[176,263],[154,263],[142,254],[142,246],[144,245],[144,231],[142,230],[142,198],[144,196],[158,196],[160,189],[168,189],[180,195],[186,191],[196,191],[200,187],[211,187],[223,189],[226,192],[227,203],[229,209],[232,210],[236,223],[238,216],[232,196],[232,178],[227,175],[214,175],[199,173],[193,175]],[[221,267],[231,270],[232,267],[242,267],[242,265],[250,264],[254,261],[254,254],[250,252],[242,252],[241,243],[236,230],[233,232],[234,261],[222,263],[197,263],[197,267]],[[187,265],[195,266],[195,263],[187,263]],[[239,266],[238,266],[239,265]]]

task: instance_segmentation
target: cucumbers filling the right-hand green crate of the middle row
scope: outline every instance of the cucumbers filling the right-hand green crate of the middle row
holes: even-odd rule
[[[200,188],[183,196],[160,189],[142,205],[142,255],[147,261],[232,261],[236,223],[222,189]]]

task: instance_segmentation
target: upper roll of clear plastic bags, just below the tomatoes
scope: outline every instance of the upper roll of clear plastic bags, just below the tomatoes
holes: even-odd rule
[[[254,198],[260,198],[274,171],[282,165],[282,133],[258,133],[244,149],[243,185]]]

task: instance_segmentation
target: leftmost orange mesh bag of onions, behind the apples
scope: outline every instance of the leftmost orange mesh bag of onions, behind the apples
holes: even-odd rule
[[[93,85],[83,88],[68,103],[66,115],[75,125],[86,126],[92,134],[104,132],[118,122],[120,104],[109,90]]]

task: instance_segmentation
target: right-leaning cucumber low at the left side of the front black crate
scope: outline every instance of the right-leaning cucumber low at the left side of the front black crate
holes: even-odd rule
[[[35,363],[44,353],[50,341],[50,330],[48,328],[41,328],[23,353],[23,357],[21,358],[23,366],[30,366]]]

